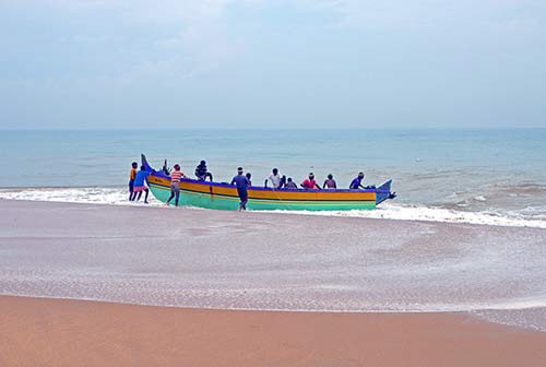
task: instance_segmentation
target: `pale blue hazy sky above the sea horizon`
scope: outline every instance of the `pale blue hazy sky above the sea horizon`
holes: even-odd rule
[[[0,0],[0,129],[546,127],[546,0]]]

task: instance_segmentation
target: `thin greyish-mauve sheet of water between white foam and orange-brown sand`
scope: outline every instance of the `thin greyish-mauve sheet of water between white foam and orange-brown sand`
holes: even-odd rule
[[[0,294],[473,311],[546,330],[544,229],[13,201],[0,211],[17,221],[0,229]]]

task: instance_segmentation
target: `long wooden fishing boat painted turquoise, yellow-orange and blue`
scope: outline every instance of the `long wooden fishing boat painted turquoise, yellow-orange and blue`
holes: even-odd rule
[[[142,165],[150,173],[147,185],[152,194],[166,202],[170,196],[170,177],[163,170],[153,169],[142,155]],[[271,189],[251,186],[248,188],[249,210],[305,210],[345,211],[371,210],[388,199],[392,180],[378,188],[365,190],[299,190]],[[180,205],[205,209],[238,210],[239,197],[235,186],[226,182],[210,182],[191,178],[180,180]]]

